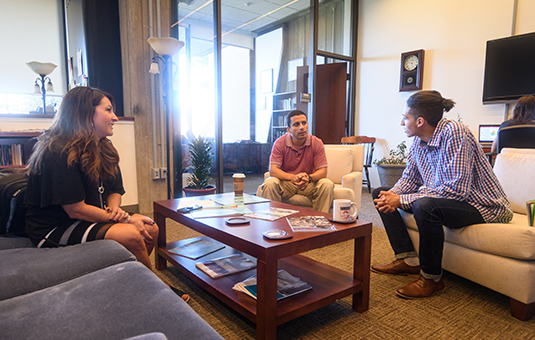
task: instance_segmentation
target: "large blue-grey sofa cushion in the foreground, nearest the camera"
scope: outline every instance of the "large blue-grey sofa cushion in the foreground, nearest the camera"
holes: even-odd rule
[[[0,301],[0,329],[5,339],[223,339],[139,262]]]

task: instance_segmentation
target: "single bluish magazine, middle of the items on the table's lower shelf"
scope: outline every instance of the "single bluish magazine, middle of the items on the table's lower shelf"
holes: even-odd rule
[[[217,279],[218,277],[256,268],[256,262],[254,259],[251,259],[242,253],[238,253],[204,262],[197,262],[195,267],[208,274],[212,279]]]

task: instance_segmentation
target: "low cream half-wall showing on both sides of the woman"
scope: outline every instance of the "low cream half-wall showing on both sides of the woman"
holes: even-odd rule
[[[46,118],[17,118],[0,117],[0,131],[24,131],[35,129],[48,129],[52,124],[52,117]],[[137,205],[137,173],[136,173],[136,144],[134,140],[134,122],[120,120],[115,123],[113,136],[110,137],[113,145],[119,151],[123,185],[126,193],[123,195],[122,205]]]

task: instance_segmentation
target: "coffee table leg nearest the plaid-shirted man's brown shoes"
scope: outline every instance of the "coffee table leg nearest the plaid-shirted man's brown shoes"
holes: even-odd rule
[[[353,278],[362,282],[362,291],[353,294],[353,309],[359,313],[368,310],[370,305],[370,261],[371,235],[355,239],[355,255],[353,259]]]

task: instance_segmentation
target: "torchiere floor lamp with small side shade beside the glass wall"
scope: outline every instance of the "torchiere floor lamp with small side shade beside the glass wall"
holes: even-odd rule
[[[177,54],[182,47],[183,41],[178,41],[172,37],[157,38],[151,37],[147,40],[152,49],[158,53],[152,58],[149,73],[160,74],[160,67],[158,61],[161,61],[164,66],[163,79],[164,88],[163,96],[165,102],[165,117],[166,117],[166,141],[167,141],[167,198],[177,198],[182,196],[182,138],[180,133],[180,112],[177,110],[173,114],[173,82],[172,82],[172,56]],[[173,115],[172,123],[170,125],[170,116]],[[171,141],[172,136],[172,141]],[[170,161],[170,145],[173,143],[173,173],[171,175],[171,161]],[[171,186],[171,178],[173,179],[173,186]],[[172,188],[174,190],[172,190]]]

